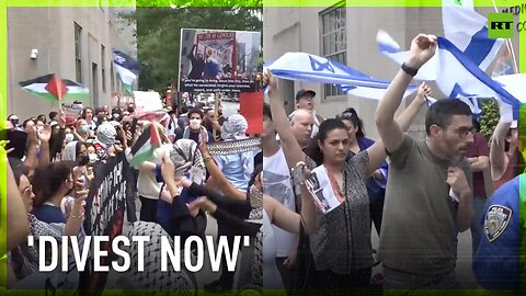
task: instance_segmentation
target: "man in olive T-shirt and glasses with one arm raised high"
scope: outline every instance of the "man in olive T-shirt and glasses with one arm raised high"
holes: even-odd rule
[[[384,288],[459,287],[457,234],[473,217],[472,173],[466,160],[474,133],[471,110],[460,100],[435,102],[427,110],[424,141],[404,135],[393,118],[403,92],[437,45],[434,35],[413,38],[408,60],[376,110],[390,160],[379,241]]]

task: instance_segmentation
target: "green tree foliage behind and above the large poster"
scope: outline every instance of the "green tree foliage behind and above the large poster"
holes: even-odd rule
[[[247,1],[252,2],[260,5],[236,7],[233,3],[239,4],[238,1],[208,0],[137,1],[136,11],[119,16],[137,26],[137,59],[141,66],[139,89],[161,90],[170,86],[172,79],[178,81],[181,29],[261,32],[261,0]],[[196,3],[210,7],[195,7]],[[159,7],[144,7],[146,4]]]

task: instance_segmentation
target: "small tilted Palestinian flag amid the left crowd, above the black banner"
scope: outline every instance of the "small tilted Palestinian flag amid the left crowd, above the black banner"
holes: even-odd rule
[[[152,159],[153,151],[161,146],[161,137],[157,130],[156,124],[150,124],[137,143],[132,148],[130,166],[137,169],[137,166]]]

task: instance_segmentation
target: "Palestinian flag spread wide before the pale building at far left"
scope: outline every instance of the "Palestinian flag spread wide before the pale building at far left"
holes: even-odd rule
[[[82,101],[90,98],[90,91],[79,83],[68,79],[60,79],[58,76],[50,73],[41,76],[32,80],[19,83],[22,89],[33,93],[36,96],[57,101]]]

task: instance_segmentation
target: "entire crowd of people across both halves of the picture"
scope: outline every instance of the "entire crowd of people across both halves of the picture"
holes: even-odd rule
[[[132,162],[132,147],[153,125],[159,147],[132,168],[140,221],[157,227],[153,232],[184,239],[204,237],[211,215],[217,235],[230,246],[235,236],[253,239],[253,248],[243,251],[249,263],[237,270],[237,285],[236,272],[222,261],[219,280],[204,285],[207,289],[455,289],[461,287],[455,273],[458,234],[468,229],[479,285],[518,287],[524,146],[517,124],[501,121],[487,139],[462,101],[427,105],[431,88],[425,83],[395,116],[412,70],[435,49],[435,36],[412,41],[405,68],[376,110],[377,141],[366,137],[353,107],[335,118],[317,114],[311,90],[299,91],[297,110],[287,114],[270,72],[264,76],[270,104],[263,107],[262,149],[236,150],[249,138],[247,119],[213,110],[170,111],[149,121],[136,116],[134,104],[111,111],[84,107],[78,117],[60,110],[23,122],[10,115],[9,286],[43,285],[34,280],[43,254],[27,246],[28,235],[85,238],[84,200],[93,167],[119,153]],[[422,109],[426,137],[416,139],[405,132]],[[210,153],[208,146],[218,141],[233,151]],[[341,200],[327,213],[305,182],[319,167]],[[371,274],[378,263],[381,276]],[[82,286],[71,264],[59,275],[71,287]]]

